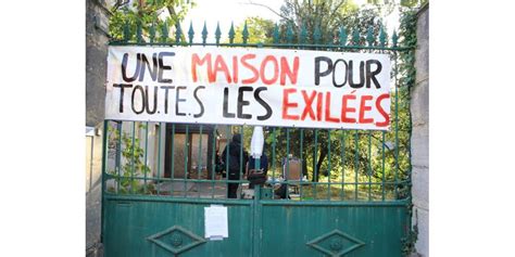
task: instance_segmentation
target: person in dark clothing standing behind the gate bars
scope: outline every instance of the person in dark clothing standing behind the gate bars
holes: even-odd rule
[[[240,172],[240,167],[241,171],[244,171],[243,167],[247,166],[247,162],[249,160],[249,154],[247,151],[243,149],[242,154],[242,163],[240,164],[240,150],[241,150],[241,134],[235,133],[233,136],[233,140],[229,143],[228,147],[225,147],[224,153],[222,154],[222,162],[227,162],[227,149],[229,150],[229,157],[228,157],[228,176],[229,180],[239,180],[241,177]],[[227,167],[227,165],[225,165]],[[228,191],[227,191],[227,197],[228,198],[236,198],[237,197],[237,191],[238,191],[238,185],[239,183],[228,183]]]

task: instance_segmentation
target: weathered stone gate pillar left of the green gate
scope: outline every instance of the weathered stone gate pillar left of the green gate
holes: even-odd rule
[[[86,256],[102,256],[100,244],[102,133],[109,43],[109,5],[86,0],[86,126],[95,127],[86,145]],[[92,154],[91,154],[92,153]]]

